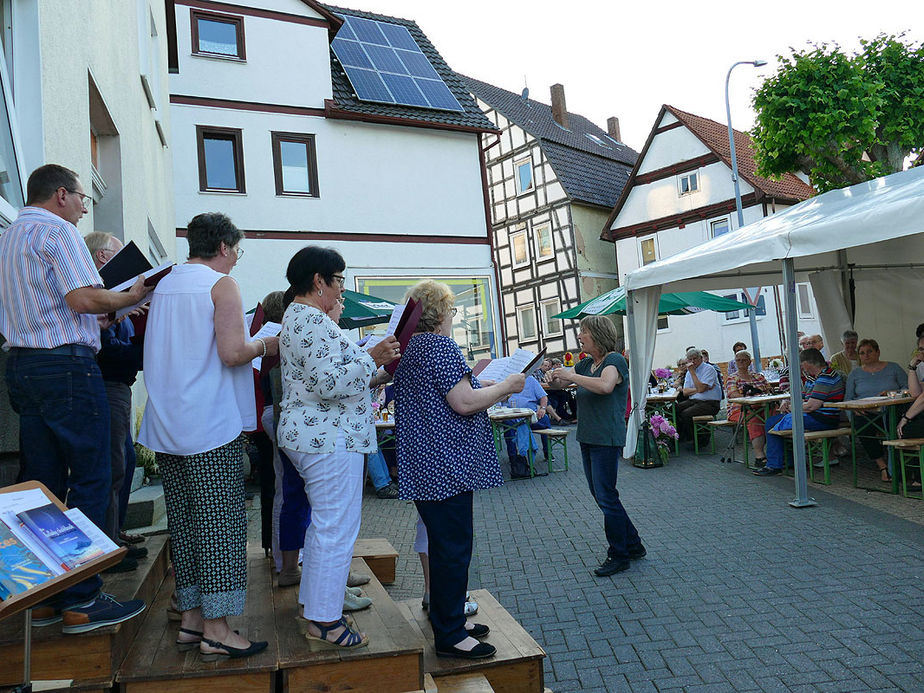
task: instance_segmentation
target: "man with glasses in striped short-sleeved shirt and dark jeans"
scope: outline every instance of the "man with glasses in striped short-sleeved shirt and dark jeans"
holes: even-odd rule
[[[41,481],[105,530],[109,501],[109,404],[96,352],[97,315],[138,303],[149,288],[103,288],[76,224],[87,195],[73,171],[32,172],[26,207],[0,235],[0,334],[10,349],[7,382],[19,414],[23,481]],[[33,625],[64,621],[82,633],[128,620],[144,602],[116,601],[94,576],[33,612]]]

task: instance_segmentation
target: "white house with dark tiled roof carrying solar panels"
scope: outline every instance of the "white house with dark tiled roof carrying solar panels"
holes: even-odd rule
[[[179,254],[189,219],[220,211],[247,235],[233,272],[247,307],[287,287],[306,244],[337,249],[347,288],[362,293],[401,302],[419,279],[438,279],[458,296],[463,353],[496,354],[480,144],[492,126],[416,24],[301,0],[205,4],[175,3]],[[464,110],[359,99],[331,49],[338,35],[357,45],[345,18],[406,29]]]

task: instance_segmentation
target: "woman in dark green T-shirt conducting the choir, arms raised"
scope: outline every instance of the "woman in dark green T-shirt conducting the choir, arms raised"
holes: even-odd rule
[[[629,366],[617,353],[618,334],[613,321],[603,315],[581,320],[578,341],[590,358],[578,362],[574,369],[553,372],[555,380],[578,386],[577,439],[581,444],[584,476],[590,495],[603,511],[603,529],[608,544],[606,559],[594,569],[597,577],[606,577],[628,569],[630,559],[642,558],[647,552],[638,531],[629,519],[616,490],[619,458],[626,444],[626,398],[629,392]]]

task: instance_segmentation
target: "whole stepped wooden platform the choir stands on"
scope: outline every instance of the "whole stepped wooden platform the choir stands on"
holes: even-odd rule
[[[203,662],[196,648],[176,646],[178,624],[167,618],[174,586],[167,540],[151,537],[144,546],[150,553],[139,570],[105,576],[104,589],[144,599],[145,613],[82,635],[63,635],[60,625],[34,628],[33,680],[60,681],[54,690],[113,693],[543,693],[545,653],[484,590],[473,593],[480,606],[475,620],[490,626],[487,641],[498,648],[497,656],[476,662],[437,658],[419,600],[395,603],[381,584],[379,576],[394,580],[397,558],[385,539],[360,540],[354,558],[353,570],[373,576],[363,587],[373,605],[351,615],[369,636],[367,647],[341,650],[307,640],[296,621],[298,587],[279,588],[272,562],[251,546],[246,611],[230,621],[245,637],[269,646],[254,657],[216,662]],[[22,677],[22,626],[21,616],[0,623],[0,685]]]

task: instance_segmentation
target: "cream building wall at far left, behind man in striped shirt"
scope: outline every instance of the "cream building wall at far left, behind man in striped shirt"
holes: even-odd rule
[[[167,33],[163,0],[0,0],[0,233],[29,173],[56,163],[93,197],[81,234],[134,241],[155,265],[175,257]],[[0,456],[18,449],[5,388]]]

